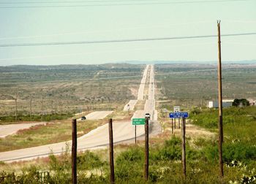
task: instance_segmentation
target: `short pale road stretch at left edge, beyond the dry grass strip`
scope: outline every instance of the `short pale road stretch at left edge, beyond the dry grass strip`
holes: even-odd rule
[[[44,125],[44,124],[45,122],[0,125],[0,137],[7,137],[10,134],[15,134],[20,129],[29,129],[31,126]]]

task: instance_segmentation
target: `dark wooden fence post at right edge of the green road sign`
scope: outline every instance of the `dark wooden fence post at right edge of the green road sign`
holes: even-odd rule
[[[145,163],[144,163],[144,179],[148,180],[148,117],[145,120]]]

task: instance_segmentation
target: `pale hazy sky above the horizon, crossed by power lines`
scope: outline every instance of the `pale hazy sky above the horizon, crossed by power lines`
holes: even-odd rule
[[[30,0],[30,2],[42,1],[46,0]],[[62,0],[56,1],[63,2]],[[256,0],[206,0],[200,3],[195,3],[195,1],[198,0],[179,1],[182,3],[178,4],[173,3],[178,0],[3,4],[4,2],[26,2],[26,0],[0,0],[0,7],[12,7],[0,8],[0,45],[209,35],[217,34],[217,20],[222,20],[222,34],[256,32]],[[87,6],[89,4],[98,5]],[[115,5],[105,6],[104,4]],[[37,7],[69,5],[83,6]],[[16,6],[24,7],[14,8]],[[36,6],[36,8],[31,8],[31,6]],[[222,61],[255,59],[256,35],[222,37]],[[0,66],[163,60],[216,61],[217,38],[0,47]]]

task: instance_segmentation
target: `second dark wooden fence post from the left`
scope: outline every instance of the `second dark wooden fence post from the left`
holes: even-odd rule
[[[112,118],[110,118],[109,121],[108,121],[108,129],[109,129],[110,183],[115,183]]]

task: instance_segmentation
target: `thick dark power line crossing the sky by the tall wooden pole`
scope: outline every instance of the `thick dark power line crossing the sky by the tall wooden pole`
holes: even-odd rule
[[[240,33],[240,34],[222,34],[222,37],[236,37],[255,35],[252,33]],[[186,37],[156,37],[156,38],[144,38],[144,39],[110,39],[110,40],[95,40],[95,41],[74,41],[74,42],[45,42],[45,43],[20,43],[20,44],[1,44],[0,47],[29,47],[29,46],[47,46],[47,45],[82,45],[82,44],[104,44],[104,43],[121,43],[121,42],[146,42],[146,41],[160,41],[171,39],[197,39],[197,38],[211,38],[217,37],[217,35],[202,35],[202,36],[186,36]]]

